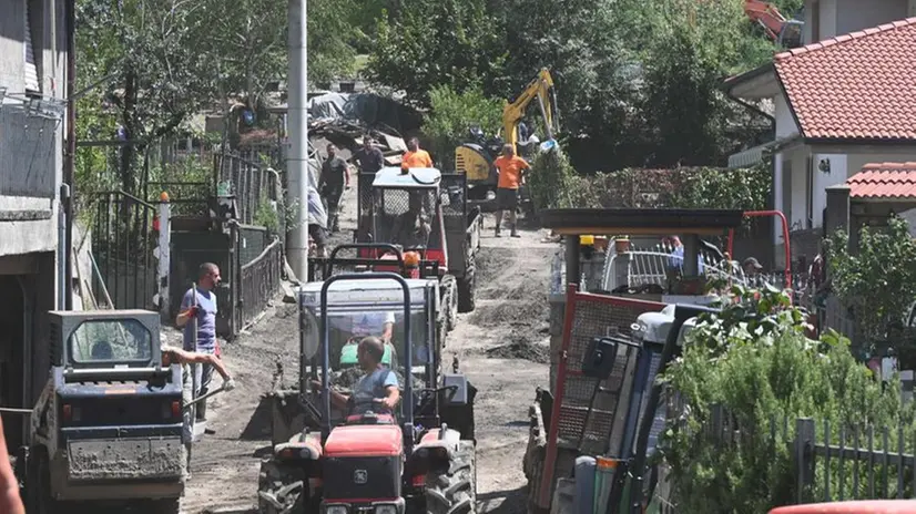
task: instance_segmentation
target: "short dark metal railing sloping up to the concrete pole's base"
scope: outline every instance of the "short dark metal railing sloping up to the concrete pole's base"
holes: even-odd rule
[[[254,260],[242,266],[240,319],[244,327],[254,321],[279,291],[283,270],[283,248],[276,237]]]

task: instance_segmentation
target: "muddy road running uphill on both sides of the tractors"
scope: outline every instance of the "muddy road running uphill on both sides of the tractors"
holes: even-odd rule
[[[356,199],[344,198],[344,241],[355,226]],[[553,246],[542,234],[495,238],[486,220],[477,279],[477,309],[459,315],[446,342],[446,362],[457,354],[479,392],[476,400],[478,507],[500,514],[526,512],[522,454],[528,441],[528,405],[535,388],[548,386],[547,290]],[[175,336],[177,337],[177,336]],[[269,417],[261,397],[278,380],[276,360],[285,363],[286,383],[297,378],[296,308],[277,300],[264,318],[236,341],[224,359],[237,389],[215,397],[207,426],[215,434],[195,444],[192,477],[183,512],[251,512],[256,505],[261,456],[269,452]]]

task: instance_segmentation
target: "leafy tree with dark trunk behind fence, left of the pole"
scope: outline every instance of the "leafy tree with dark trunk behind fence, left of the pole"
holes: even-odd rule
[[[133,143],[121,147],[118,163],[118,178],[126,192],[138,186],[135,162],[145,146],[176,131],[214,89],[206,55],[196,51],[194,6],[181,0],[78,3],[78,80],[84,88],[102,88],[103,94],[88,96],[82,105],[98,102],[89,105],[98,113],[103,100],[103,107],[116,113],[124,138]],[[102,125],[83,131],[110,127]]]

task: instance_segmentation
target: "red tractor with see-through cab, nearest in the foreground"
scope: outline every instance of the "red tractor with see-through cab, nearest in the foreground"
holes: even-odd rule
[[[262,463],[259,512],[475,511],[476,391],[457,361],[442,371],[437,287],[435,279],[390,273],[336,275],[303,286],[297,400],[306,422]],[[383,337],[386,326],[390,337]],[[367,336],[386,341],[388,363],[364,369],[365,361],[349,362],[347,348]],[[377,377],[400,390],[394,411],[365,401],[366,391],[378,390]],[[346,407],[334,401],[340,395],[349,398]]]

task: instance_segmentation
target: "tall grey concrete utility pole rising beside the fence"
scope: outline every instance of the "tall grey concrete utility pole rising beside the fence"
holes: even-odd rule
[[[299,281],[308,279],[308,115],[306,91],[308,64],[306,50],[306,0],[288,0],[289,76],[287,80],[289,153],[286,157],[287,205],[295,209],[295,222],[287,236],[286,255]]]

